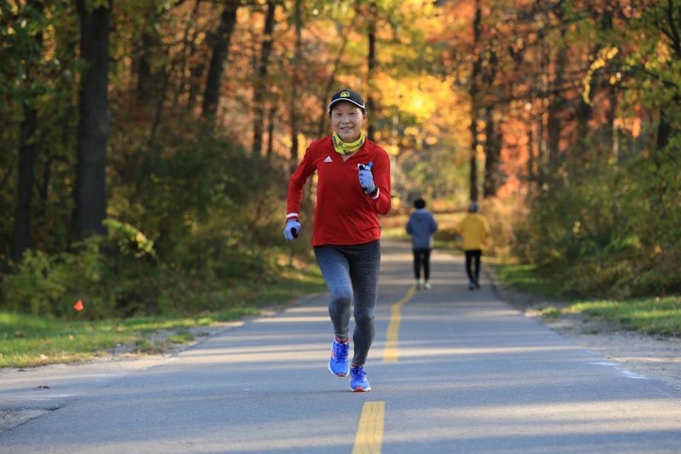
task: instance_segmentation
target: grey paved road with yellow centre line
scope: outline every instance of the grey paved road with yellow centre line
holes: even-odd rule
[[[45,414],[0,432],[0,453],[681,452],[681,392],[526,319],[489,282],[469,292],[450,255],[407,300],[410,251],[383,246],[372,392],[326,372],[319,295],[144,367],[5,371],[0,408]]]

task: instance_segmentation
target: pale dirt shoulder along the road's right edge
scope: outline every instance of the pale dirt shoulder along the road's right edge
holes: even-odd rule
[[[681,390],[681,339],[648,336],[626,331],[602,320],[585,320],[579,314],[546,318],[538,310],[547,306],[559,307],[557,301],[518,292],[497,279],[494,270],[487,270],[499,295],[519,311],[524,312],[565,338],[582,345],[609,360],[619,362],[626,370],[656,379]]]

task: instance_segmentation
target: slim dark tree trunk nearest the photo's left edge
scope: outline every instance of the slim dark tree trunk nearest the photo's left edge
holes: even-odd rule
[[[31,245],[31,194],[33,193],[35,131],[37,128],[38,111],[33,106],[24,103],[11,247],[11,258],[15,262],[21,260],[23,252]]]

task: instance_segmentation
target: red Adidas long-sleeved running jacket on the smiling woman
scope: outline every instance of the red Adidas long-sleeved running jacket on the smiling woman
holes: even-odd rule
[[[366,195],[360,187],[357,165],[369,162],[373,162],[377,192]],[[379,239],[377,214],[390,211],[390,159],[385,150],[367,139],[343,162],[343,156],[333,149],[331,135],[311,143],[289,182],[287,221],[298,219],[303,187],[315,171],[312,245],[355,245]]]

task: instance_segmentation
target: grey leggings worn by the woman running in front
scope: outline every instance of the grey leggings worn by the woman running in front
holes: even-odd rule
[[[378,298],[381,243],[314,248],[319,269],[331,295],[328,314],[338,338],[348,337],[350,305],[355,303],[354,366],[363,366],[374,340],[374,306]]]

